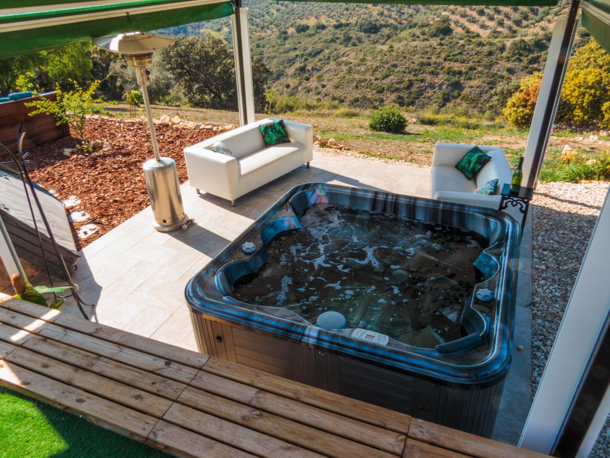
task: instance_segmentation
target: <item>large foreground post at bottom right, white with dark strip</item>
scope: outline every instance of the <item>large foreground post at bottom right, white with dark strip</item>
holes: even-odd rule
[[[610,409],[610,192],[601,207],[519,446],[587,457]]]

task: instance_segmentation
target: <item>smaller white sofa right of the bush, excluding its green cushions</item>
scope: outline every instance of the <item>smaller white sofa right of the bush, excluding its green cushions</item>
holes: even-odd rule
[[[464,154],[475,145],[437,143],[432,156],[431,197],[447,202],[465,203],[497,209],[500,205],[500,191],[504,183],[511,183],[511,166],[506,161],[504,151],[498,147],[477,145],[491,161],[467,180],[462,172],[456,169],[456,164]],[[494,195],[473,194],[481,184],[498,178],[498,186]]]

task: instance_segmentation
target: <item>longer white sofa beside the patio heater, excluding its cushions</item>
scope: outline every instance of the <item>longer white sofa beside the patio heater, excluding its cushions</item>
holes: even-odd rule
[[[231,201],[257,187],[307,164],[314,158],[312,126],[284,121],[290,143],[265,147],[259,126],[276,118],[266,118],[201,143],[184,148],[188,183],[197,192],[205,191]],[[235,157],[210,150],[213,142],[223,142]]]

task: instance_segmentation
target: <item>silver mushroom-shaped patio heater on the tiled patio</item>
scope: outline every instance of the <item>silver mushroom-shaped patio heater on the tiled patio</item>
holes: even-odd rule
[[[93,43],[102,49],[123,54],[127,65],[134,67],[138,84],[142,89],[144,109],[148,119],[148,128],[151,133],[152,151],[154,159],[148,159],[142,165],[148,195],[151,199],[152,213],[154,215],[154,228],[160,232],[170,232],[182,228],[185,230],[192,222],[184,214],[180,182],[176,162],[171,158],[159,154],[159,145],[154,133],[154,123],[150,101],[148,100],[149,78],[146,74],[146,65],[151,64],[152,54],[165,46],[170,45],[174,37],[169,35],[155,35],[146,32],[129,32],[107,37],[94,38]]]

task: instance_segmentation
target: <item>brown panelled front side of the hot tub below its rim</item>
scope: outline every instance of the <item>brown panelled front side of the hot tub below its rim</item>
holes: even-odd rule
[[[491,437],[504,380],[464,389],[191,312],[200,352],[312,387]]]

